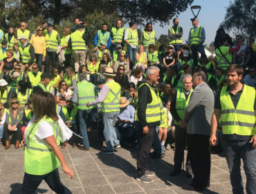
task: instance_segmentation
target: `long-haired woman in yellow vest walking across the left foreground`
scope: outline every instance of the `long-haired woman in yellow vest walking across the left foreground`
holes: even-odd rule
[[[60,181],[58,167],[71,179],[73,170],[66,164],[60,151],[60,119],[56,112],[56,102],[52,94],[39,91],[32,98],[34,116],[25,131],[25,157],[23,193],[35,193],[44,180],[55,193],[71,194]],[[61,120],[61,119],[60,119]],[[60,121],[63,122],[63,121]],[[64,125],[64,123],[63,123]],[[24,145],[24,143],[21,143]]]

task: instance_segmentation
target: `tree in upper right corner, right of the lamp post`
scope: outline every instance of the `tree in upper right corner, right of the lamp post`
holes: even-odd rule
[[[235,0],[230,1],[226,16],[221,26],[230,32],[244,36],[248,44],[256,39],[256,1]]]

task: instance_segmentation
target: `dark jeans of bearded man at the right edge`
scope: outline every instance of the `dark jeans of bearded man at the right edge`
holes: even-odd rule
[[[256,191],[256,150],[253,143],[248,141],[237,141],[223,139],[223,150],[230,170],[230,182],[232,192],[244,194],[243,179],[241,177],[241,159],[244,161],[244,172],[246,173],[246,193]]]

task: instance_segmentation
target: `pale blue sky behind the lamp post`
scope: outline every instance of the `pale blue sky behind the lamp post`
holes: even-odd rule
[[[214,41],[216,31],[226,15],[226,8],[229,4],[230,1],[228,0],[194,0],[192,3],[191,6],[201,6],[198,19],[199,25],[205,28],[205,44],[210,44],[210,42]],[[197,14],[197,10],[194,10],[194,13]],[[190,19],[193,17],[190,6],[188,6],[185,12],[181,12],[178,15],[179,26],[183,28],[183,44],[185,44],[185,39],[188,40],[188,33],[190,28],[192,28]],[[125,27],[127,26],[125,25]],[[167,35],[170,27],[172,27],[172,21],[170,21],[169,26],[166,25],[163,28],[159,24],[154,24],[153,29],[156,31],[156,37],[158,38],[162,34]]]

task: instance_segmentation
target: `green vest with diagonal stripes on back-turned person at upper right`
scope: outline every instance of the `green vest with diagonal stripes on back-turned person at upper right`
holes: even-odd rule
[[[221,52],[219,52],[219,49],[221,49]],[[229,47],[228,46],[220,46],[219,49],[217,48],[215,50],[216,59],[217,59],[217,62],[216,62],[217,67],[220,67],[221,69],[226,70],[232,62],[232,55],[231,55],[231,53],[229,53]],[[226,57],[226,59],[228,61],[225,58],[223,58],[221,53],[223,53],[223,55]]]

